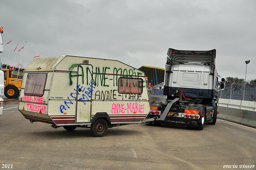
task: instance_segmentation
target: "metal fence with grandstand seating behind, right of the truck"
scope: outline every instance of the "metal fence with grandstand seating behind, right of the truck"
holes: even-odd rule
[[[255,101],[256,85],[248,82],[238,85],[234,82],[232,84],[226,84],[224,90],[218,92],[219,98],[233,99],[233,100],[247,100]]]

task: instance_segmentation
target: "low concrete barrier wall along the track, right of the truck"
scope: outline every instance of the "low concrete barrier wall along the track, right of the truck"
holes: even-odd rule
[[[219,99],[217,118],[256,128],[256,102]]]

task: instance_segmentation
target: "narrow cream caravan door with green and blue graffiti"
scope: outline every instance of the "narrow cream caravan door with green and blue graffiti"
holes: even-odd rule
[[[92,74],[92,65],[78,64],[76,86],[76,123],[90,122],[93,82]]]

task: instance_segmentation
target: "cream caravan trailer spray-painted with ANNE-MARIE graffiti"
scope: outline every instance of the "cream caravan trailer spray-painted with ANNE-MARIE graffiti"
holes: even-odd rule
[[[142,123],[150,112],[144,72],[116,60],[37,58],[24,71],[19,110],[33,122],[66,130]]]

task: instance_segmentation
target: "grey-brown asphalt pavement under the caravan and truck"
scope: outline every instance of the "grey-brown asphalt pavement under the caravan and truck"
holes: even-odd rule
[[[256,165],[256,129],[224,120],[205,124],[202,131],[132,124],[109,128],[104,137],[97,138],[89,128],[66,131],[30,123],[17,106],[18,99],[4,100],[0,116],[2,169],[256,169],[250,168]]]

